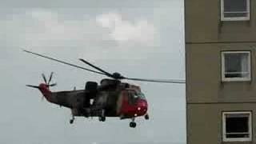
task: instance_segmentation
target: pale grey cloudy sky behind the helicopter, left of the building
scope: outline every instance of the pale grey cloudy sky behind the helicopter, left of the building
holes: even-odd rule
[[[85,66],[78,58],[130,78],[185,79],[180,0],[0,0],[0,143],[186,143],[185,85],[133,82],[149,102],[150,120],[76,118],[41,100],[41,74],[51,90],[83,89],[102,75],[26,54],[32,50]],[[88,66],[85,66],[88,68]]]

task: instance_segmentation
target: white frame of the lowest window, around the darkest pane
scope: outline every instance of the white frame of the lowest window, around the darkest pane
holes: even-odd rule
[[[226,138],[226,114],[249,114],[249,138]],[[223,142],[251,142],[252,141],[252,111],[226,111],[222,112],[222,141]]]

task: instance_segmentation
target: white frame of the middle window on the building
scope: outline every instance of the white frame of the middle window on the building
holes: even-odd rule
[[[248,54],[248,72],[249,77],[248,78],[226,78],[225,77],[225,54]],[[251,81],[251,52],[250,50],[244,50],[244,51],[222,51],[222,82],[250,82]]]

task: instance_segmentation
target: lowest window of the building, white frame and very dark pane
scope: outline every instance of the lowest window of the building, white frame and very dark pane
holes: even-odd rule
[[[223,142],[245,142],[252,140],[251,112],[223,112]]]

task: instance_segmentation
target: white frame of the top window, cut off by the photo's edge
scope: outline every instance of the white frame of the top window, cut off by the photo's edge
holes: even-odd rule
[[[244,0],[246,1],[246,17],[234,17],[234,18],[230,18],[230,17],[225,17],[224,16],[224,1],[225,0],[221,0],[221,20],[222,21],[250,21],[250,0]]]

